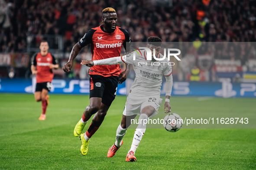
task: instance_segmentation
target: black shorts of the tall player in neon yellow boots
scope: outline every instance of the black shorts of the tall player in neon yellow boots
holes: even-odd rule
[[[101,98],[101,103],[110,106],[117,94],[118,77],[90,75],[90,98]]]

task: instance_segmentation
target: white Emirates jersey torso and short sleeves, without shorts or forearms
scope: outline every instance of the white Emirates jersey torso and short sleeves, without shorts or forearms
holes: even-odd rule
[[[121,58],[123,62],[132,64],[136,73],[129,95],[133,94],[134,97],[138,98],[146,96],[160,97],[162,76],[172,74],[171,63],[166,58],[155,62],[146,60],[146,51],[141,50],[141,52],[142,56],[134,51]],[[134,54],[135,60],[133,60]],[[163,55],[160,54],[159,57],[162,58]]]

